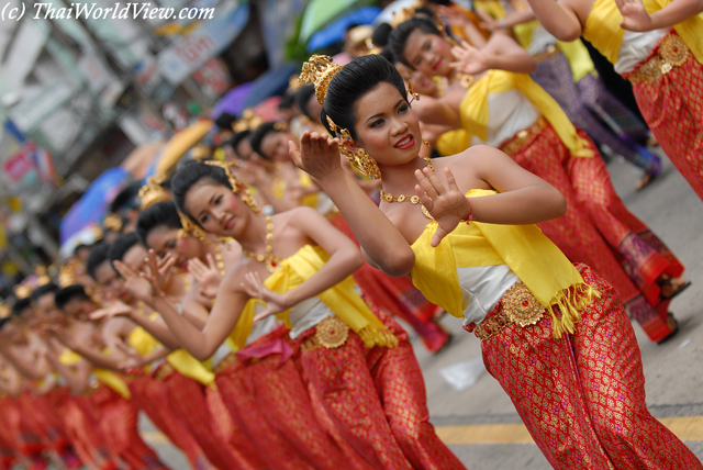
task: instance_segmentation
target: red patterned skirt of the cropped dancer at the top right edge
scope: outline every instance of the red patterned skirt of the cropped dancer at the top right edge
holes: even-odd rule
[[[677,33],[672,30],[669,34]],[[658,55],[659,46],[647,60]],[[655,82],[633,83],[633,92],[659,145],[703,199],[703,65],[689,53],[681,66],[673,67]]]

